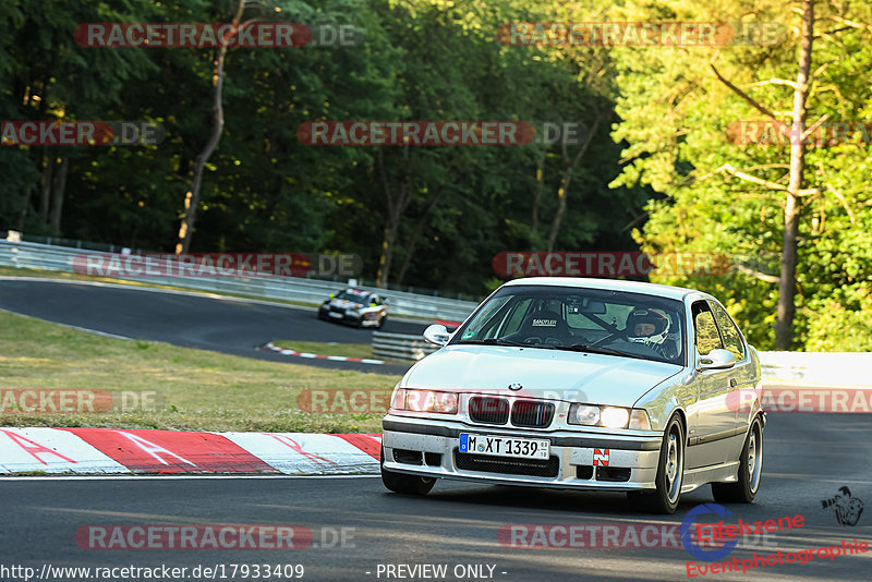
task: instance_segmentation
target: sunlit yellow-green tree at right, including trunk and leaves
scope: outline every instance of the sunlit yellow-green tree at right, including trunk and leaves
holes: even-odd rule
[[[857,277],[869,274],[867,267],[843,270],[832,253],[818,252],[853,239],[863,220],[861,182],[851,169],[864,163],[862,151],[790,140],[794,128],[809,137],[829,119],[862,119],[870,90],[855,77],[865,74],[860,61],[869,54],[870,31],[858,23],[869,20],[869,7],[827,4],[814,14],[813,4],[803,4],[800,26],[794,26],[780,2],[759,2],[754,22],[782,24],[774,43],[616,50],[625,72],[618,77],[623,122],[615,137],[630,144],[630,163],[615,184],[647,183],[667,195],[650,203],[651,219],[637,239],[653,252],[726,253],[734,267],[725,277],[658,280],[725,296],[752,341],[779,349],[808,340],[824,298],[861,305]],[[744,10],[740,2],[719,4],[716,16],[705,2],[637,7],[626,20],[739,22]],[[815,23],[831,26],[815,34]],[[812,62],[821,65],[812,69]],[[727,138],[736,123],[758,123],[761,116],[783,137],[779,144]],[[811,126],[807,118],[815,120]],[[840,247],[838,256],[845,265],[868,265],[870,254],[855,245]],[[792,319],[794,301],[799,320]]]

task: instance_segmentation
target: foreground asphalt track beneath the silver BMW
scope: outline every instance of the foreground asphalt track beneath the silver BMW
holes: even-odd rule
[[[872,512],[839,525],[821,500],[839,487],[872,504],[872,423],[862,414],[772,414],[765,429],[764,477],[753,505],[727,505],[728,524],[800,514],[804,526],[771,534],[732,556],[753,558],[872,541]],[[0,478],[4,492],[2,565],[78,567],[303,565],[303,580],[690,580],[683,548],[511,548],[497,532],[507,524],[679,524],[688,511],[711,502],[707,486],[687,494],[674,516],[640,514],[621,494],[437,483],[427,498],[388,493],[378,477],[172,478],[76,481]],[[713,514],[701,521],[717,521]],[[305,549],[86,549],[75,533],[87,525],[258,524],[303,525],[314,534]],[[324,547],[346,529],[346,544]],[[322,536],[324,539],[322,539]],[[586,537],[585,537],[586,538]],[[562,537],[557,537],[559,543]],[[320,546],[320,547],[315,547]],[[444,578],[386,578],[387,565],[446,565]],[[702,563],[699,562],[698,563]],[[766,566],[746,573],[693,580],[869,580],[872,553],[815,557],[811,562]],[[379,565],[383,570],[379,575]],[[493,578],[455,577],[461,565],[493,566]],[[403,570],[408,574],[408,570]],[[458,570],[459,571],[459,570]],[[190,572],[190,570],[189,570]],[[251,574],[252,570],[250,570]],[[368,572],[368,573],[367,573]],[[397,570],[395,570],[397,572]],[[487,568],[484,569],[488,573]],[[505,572],[505,573],[502,573]],[[201,580],[199,578],[189,578]],[[221,580],[220,575],[217,577]],[[252,580],[250,575],[247,580]],[[274,578],[275,579],[275,578]],[[65,580],[65,579],[60,579]]]

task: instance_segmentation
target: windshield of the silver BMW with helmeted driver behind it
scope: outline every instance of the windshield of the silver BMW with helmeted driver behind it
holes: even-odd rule
[[[574,287],[511,286],[458,329],[452,344],[522,345],[685,364],[680,301]]]

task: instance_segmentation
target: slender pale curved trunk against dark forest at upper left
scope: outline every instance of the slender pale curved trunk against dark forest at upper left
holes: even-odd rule
[[[237,14],[233,16],[232,26],[226,38],[230,38],[237,34],[244,9],[245,0],[239,0]],[[221,43],[218,48],[218,57],[215,59],[215,73],[213,74],[211,135],[194,162],[194,175],[191,180],[191,190],[189,190],[184,196],[184,218],[182,218],[182,225],[179,228],[179,241],[175,244],[177,255],[187,253],[187,250],[191,247],[191,239],[194,235],[194,222],[197,218],[197,205],[199,204],[199,186],[203,183],[203,171],[206,168],[206,162],[209,161],[209,157],[215,151],[215,148],[218,147],[218,142],[221,140],[221,132],[225,129],[222,89],[225,85],[225,59],[227,58],[227,41]]]

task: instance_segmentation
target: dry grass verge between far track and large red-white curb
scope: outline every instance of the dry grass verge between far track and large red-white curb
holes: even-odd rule
[[[0,426],[380,432],[380,414],[306,413],[296,397],[303,389],[390,390],[399,379],[105,338],[0,311]],[[129,390],[150,395],[157,405],[9,412],[22,390]]]

